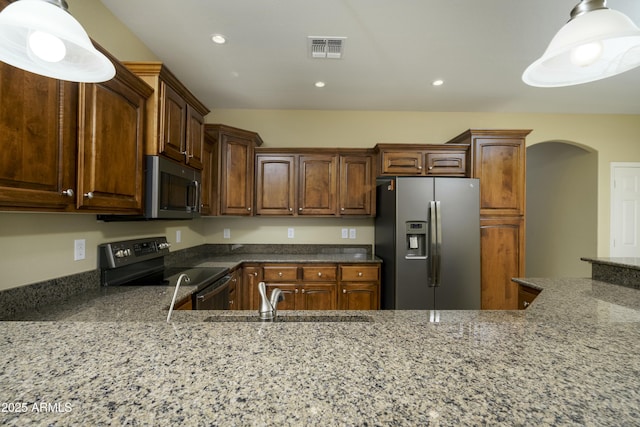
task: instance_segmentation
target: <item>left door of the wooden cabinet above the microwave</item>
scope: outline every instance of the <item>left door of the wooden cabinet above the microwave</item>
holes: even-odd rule
[[[160,84],[159,153],[179,162],[185,161],[187,101],[171,86]]]

